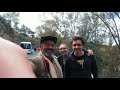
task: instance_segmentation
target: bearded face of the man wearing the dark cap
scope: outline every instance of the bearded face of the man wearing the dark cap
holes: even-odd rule
[[[55,43],[53,41],[45,41],[41,44],[41,50],[45,56],[50,57],[55,49]]]

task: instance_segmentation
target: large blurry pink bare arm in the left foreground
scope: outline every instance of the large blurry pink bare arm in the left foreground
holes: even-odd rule
[[[0,78],[35,78],[26,52],[0,37]]]

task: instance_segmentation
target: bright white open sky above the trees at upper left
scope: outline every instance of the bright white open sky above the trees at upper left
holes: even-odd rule
[[[0,12],[2,15],[5,12]],[[20,12],[19,15],[19,27],[25,25],[30,28],[32,31],[36,30],[37,26],[42,24],[42,19],[49,19],[50,15],[46,12]]]

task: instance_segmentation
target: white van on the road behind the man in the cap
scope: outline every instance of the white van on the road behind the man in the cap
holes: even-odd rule
[[[32,53],[32,44],[31,42],[21,42],[20,46],[27,52]]]

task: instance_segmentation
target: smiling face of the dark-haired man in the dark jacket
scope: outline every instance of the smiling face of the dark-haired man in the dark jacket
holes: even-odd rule
[[[73,41],[72,42],[72,49],[73,49],[74,53],[82,52],[83,44],[82,44],[81,40]]]

